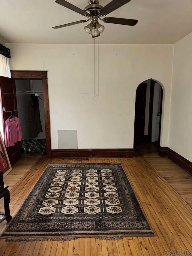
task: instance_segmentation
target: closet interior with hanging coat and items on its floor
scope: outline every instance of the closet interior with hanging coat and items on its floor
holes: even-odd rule
[[[46,156],[43,81],[16,79],[15,86],[22,131],[21,156]]]

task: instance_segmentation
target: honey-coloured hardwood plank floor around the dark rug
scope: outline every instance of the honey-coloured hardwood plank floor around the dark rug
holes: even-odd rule
[[[159,157],[155,146],[137,146],[136,158],[75,159],[22,158],[4,178],[10,187],[10,212],[16,214],[48,163],[121,163],[156,236],[121,240],[80,238],[73,241],[7,242],[0,240],[1,255],[155,256],[192,254],[192,176]],[[37,162],[36,162],[37,161]],[[35,163],[36,162],[36,163]],[[2,210],[3,201],[0,201]],[[0,224],[1,232],[7,227]],[[190,252],[189,252],[190,251]]]

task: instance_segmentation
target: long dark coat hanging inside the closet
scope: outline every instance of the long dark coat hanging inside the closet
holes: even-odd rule
[[[38,133],[42,132],[42,125],[39,111],[39,100],[35,94],[31,95],[28,102],[28,121],[29,121],[29,137],[36,138]]]

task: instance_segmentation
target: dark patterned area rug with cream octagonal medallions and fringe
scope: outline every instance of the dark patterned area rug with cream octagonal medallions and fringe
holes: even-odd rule
[[[152,235],[121,164],[48,164],[1,238]]]

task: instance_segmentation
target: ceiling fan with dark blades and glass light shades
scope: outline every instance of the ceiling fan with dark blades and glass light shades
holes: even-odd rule
[[[131,20],[131,19],[122,19],[122,18],[113,18],[113,17],[104,17],[103,19],[101,17],[106,16],[107,14],[111,13],[112,11],[116,10],[117,8],[121,7],[122,5],[125,5],[126,3],[130,2],[131,0],[113,0],[106,6],[99,5],[98,0],[90,0],[88,5],[84,8],[84,10],[76,7],[75,5],[70,4],[69,2],[65,0],[56,0],[55,2],[59,5],[62,5],[72,11],[75,11],[79,14],[82,14],[82,16],[85,16],[88,18],[88,20],[79,20],[72,23],[67,23],[60,26],[55,26],[53,29],[59,29],[79,23],[85,23],[87,21],[91,21],[90,24],[84,27],[85,31],[88,34],[91,34],[93,38],[100,36],[100,33],[102,33],[105,29],[104,26],[102,26],[98,20],[102,20],[105,23],[114,23],[114,24],[120,24],[120,25],[128,25],[128,26],[135,26],[138,22],[138,20]]]

